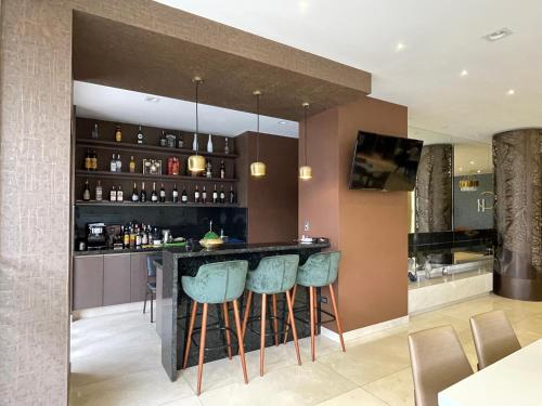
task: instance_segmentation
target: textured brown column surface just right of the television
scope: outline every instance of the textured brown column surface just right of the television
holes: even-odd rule
[[[450,144],[422,149],[415,188],[418,233],[452,230],[452,159]]]

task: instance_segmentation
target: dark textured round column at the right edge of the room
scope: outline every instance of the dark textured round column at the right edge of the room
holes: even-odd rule
[[[542,301],[542,129],[493,135],[493,291]]]

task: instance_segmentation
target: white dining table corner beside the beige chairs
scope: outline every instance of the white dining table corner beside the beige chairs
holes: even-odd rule
[[[542,339],[439,392],[439,406],[542,405]]]

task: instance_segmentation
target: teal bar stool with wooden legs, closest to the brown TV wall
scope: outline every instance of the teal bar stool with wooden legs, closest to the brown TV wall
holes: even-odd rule
[[[332,319],[324,323],[335,320],[337,323],[337,331],[340,339],[340,348],[343,352],[346,351],[345,340],[343,339],[343,327],[337,311],[337,301],[335,300],[335,291],[333,284],[337,279],[338,263],[340,260],[340,252],[319,252],[309,257],[307,262],[299,266],[297,271],[296,286],[294,287],[293,300],[295,301],[297,286],[305,286],[309,288],[309,309],[310,309],[310,352],[312,361],[315,359],[315,330],[317,330],[317,288],[327,286],[330,288],[330,296],[332,298],[333,313],[321,310],[322,313],[332,317]],[[292,311],[291,311],[292,312]],[[292,318],[291,318],[292,319]],[[293,322],[292,322],[293,323]],[[293,326],[294,327],[294,326]],[[294,328],[292,328],[292,331]],[[284,342],[288,339],[288,326],[286,326]]]

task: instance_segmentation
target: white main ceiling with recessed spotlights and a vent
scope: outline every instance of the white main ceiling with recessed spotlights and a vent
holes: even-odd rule
[[[540,0],[158,2],[367,70],[412,127],[485,141],[542,127]],[[482,39],[503,27],[514,34]]]

